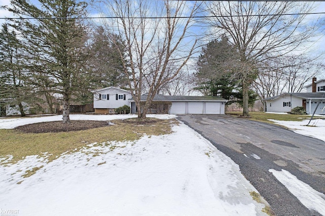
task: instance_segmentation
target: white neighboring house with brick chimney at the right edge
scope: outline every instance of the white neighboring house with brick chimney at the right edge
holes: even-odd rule
[[[302,106],[307,114],[312,114],[320,102],[315,114],[325,114],[325,79],[316,81],[314,77],[312,83],[306,85],[307,93],[284,93],[279,96],[267,98],[267,112],[290,112],[292,108]]]

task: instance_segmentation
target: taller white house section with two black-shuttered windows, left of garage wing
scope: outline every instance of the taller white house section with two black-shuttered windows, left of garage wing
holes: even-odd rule
[[[95,113],[110,114],[115,113],[115,108],[123,105],[130,106],[128,99],[131,99],[131,92],[116,87],[92,91],[93,108]]]

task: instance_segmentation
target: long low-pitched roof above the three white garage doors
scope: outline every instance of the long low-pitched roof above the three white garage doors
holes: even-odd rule
[[[148,95],[141,95],[141,101],[146,101]],[[128,99],[133,101],[133,99]],[[153,101],[218,101],[227,102],[220,97],[216,96],[172,96],[172,95],[155,95]]]

